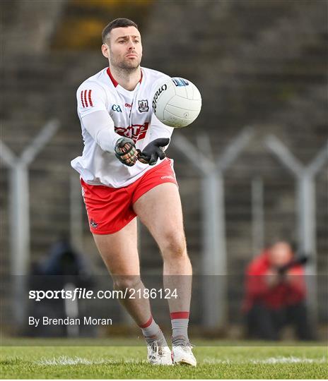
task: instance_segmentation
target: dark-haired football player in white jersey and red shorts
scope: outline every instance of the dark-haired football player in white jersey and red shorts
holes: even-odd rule
[[[141,68],[141,35],[136,23],[118,18],[102,31],[102,54],[109,67],[77,90],[84,150],[71,164],[81,175],[90,231],[114,280],[128,290],[122,303],[141,328],[152,364],[197,361],[187,327],[192,265],[187,255],[182,207],[172,161],[164,150],[172,128],[152,112],[158,81],[167,75]],[[172,322],[172,356],[153,320],[148,298],[129,298],[141,290],[136,216],[155,238],[163,257],[164,288]]]

